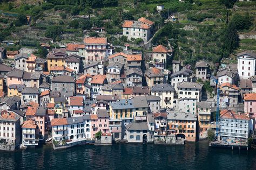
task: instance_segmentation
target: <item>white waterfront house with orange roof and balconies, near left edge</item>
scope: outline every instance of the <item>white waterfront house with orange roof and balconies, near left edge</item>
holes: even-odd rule
[[[36,122],[32,121],[25,121],[22,124],[22,143],[25,146],[37,146],[38,139],[36,139]]]

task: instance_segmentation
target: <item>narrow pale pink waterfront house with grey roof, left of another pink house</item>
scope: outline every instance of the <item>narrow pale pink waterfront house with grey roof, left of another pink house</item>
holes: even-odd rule
[[[103,109],[99,109],[97,111],[98,116],[98,131],[103,133],[109,132],[109,115],[107,115],[107,111]]]

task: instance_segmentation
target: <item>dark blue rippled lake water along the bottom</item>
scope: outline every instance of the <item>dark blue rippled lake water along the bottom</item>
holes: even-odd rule
[[[185,146],[84,145],[53,151],[51,146],[0,152],[0,169],[256,169],[256,151]]]

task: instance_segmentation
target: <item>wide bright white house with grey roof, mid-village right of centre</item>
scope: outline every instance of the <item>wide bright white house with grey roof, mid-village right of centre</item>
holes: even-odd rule
[[[201,90],[204,84],[196,82],[179,82],[178,83],[178,97],[179,98],[197,98],[197,101],[201,100]]]

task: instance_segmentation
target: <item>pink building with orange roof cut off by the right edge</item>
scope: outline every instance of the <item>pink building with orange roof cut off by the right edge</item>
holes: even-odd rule
[[[245,114],[256,116],[256,93],[244,94]]]

